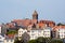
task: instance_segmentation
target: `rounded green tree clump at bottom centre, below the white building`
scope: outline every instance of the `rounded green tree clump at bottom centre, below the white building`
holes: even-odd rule
[[[50,43],[50,42],[51,42],[51,38],[43,38],[43,37],[29,41],[29,43]]]

